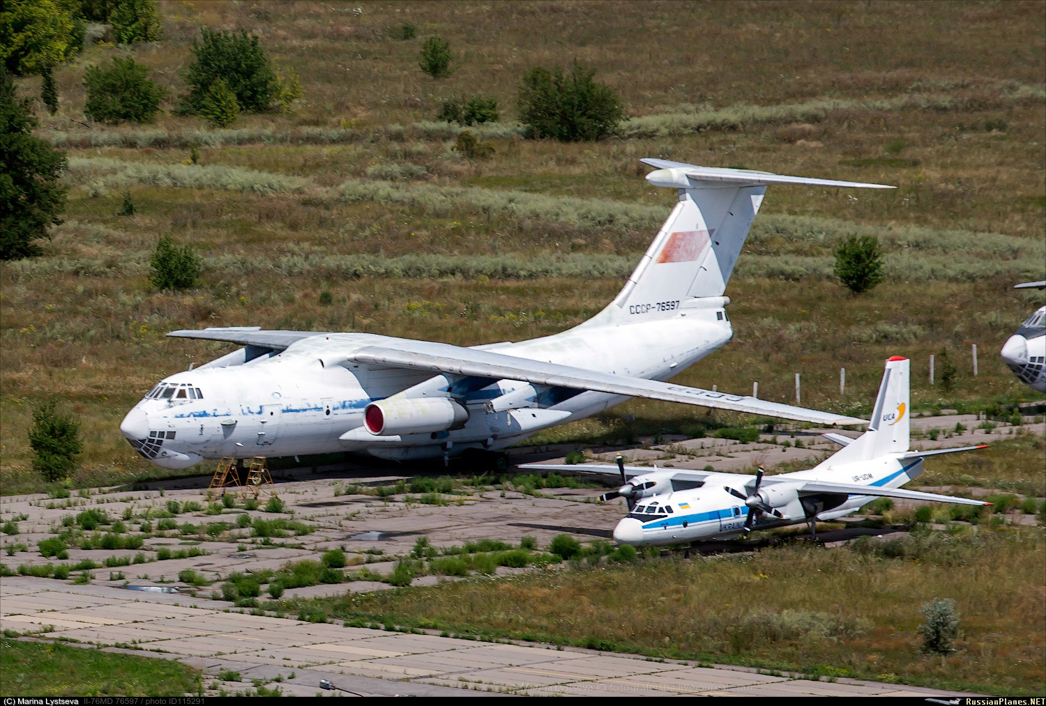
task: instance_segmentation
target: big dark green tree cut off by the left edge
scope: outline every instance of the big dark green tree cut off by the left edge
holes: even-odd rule
[[[65,155],[33,136],[37,120],[29,101],[19,98],[14,82],[0,66],[0,259],[40,254],[33,241],[61,223],[65,187],[59,178]]]

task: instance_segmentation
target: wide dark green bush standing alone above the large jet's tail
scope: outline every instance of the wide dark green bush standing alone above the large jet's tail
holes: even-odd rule
[[[525,136],[563,142],[598,140],[611,134],[623,111],[617,94],[592,81],[595,69],[574,62],[570,73],[535,67],[523,75],[517,104]]]

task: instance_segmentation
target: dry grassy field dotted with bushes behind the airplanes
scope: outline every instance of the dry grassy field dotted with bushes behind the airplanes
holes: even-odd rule
[[[42,257],[0,266],[6,492],[38,485],[25,432],[32,406],[52,395],[84,424],[78,480],[154,473],[119,419],[159,378],[225,350],[164,340],[173,328],[475,344],[583,321],[614,295],[674,201],[643,180],[637,160],[647,156],[899,186],[771,188],[727,292],[735,339],[680,382],[747,391],[757,380],[760,396],[790,401],[800,372],[804,405],[859,411],[883,359],[902,354],[913,359],[917,408],[1031,394],[997,351],[1042,297],[1010,290],[1041,278],[1046,259],[1040,3],[160,6],[160,42],[90,46],[55,69],[59,113],[37,103],[39,134],[69,155],[70,201]],[[405,21],[415,39],[395,38]],[[200,26],[258,33],[300,74],[303,99],[223,131],[169,113],[149,126],[86,120],[84,70],[111,55],[147,65],[172,108]],[[432,33],[457,58],[441,81],[417,68]],[[620,135],[523,139],[520,74],[574,59],[622,96]],[[20,89],[39,95],[39,78]],[[494,146],[487,160],[462,158],[458,129],[434,122],[441,99],[477,91],[497,96],[502,114],[476,131]],[[200,163],[185,164],[192,145]],[[133,217],[116,215],[124,192]],[[151,288],[162,233],[205,256],[198,289]],[[887,252],[887,281],[861,297],[831,275],[834,244],[849,233],[874,235]],[[959,370],[950,392],[926,379],[929,354],[942,348]],[[635,402],[610,422],[626,413],[666,429],[704,414]]]

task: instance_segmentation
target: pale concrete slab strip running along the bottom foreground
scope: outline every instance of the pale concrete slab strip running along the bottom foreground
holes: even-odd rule
[[[130,654],[176,658],[203,669],[208,682],[222,669],[266,683],[280,678],[279,687],[292,696],[340,693],[320,691],[320,679],[362,696],[976,696],[309,623],[226,612],[227,606],[115,587],[55,587],[53,580],[31,576],[0,582],[0,628],[26,632],[53,625],[41,637],[74,637],[81,644],[90,641]],[[230,682],[222,686],[246,687]]]

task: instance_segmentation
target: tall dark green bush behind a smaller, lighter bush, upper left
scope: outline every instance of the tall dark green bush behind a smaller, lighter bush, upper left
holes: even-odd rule
[[[189,93],[179,110],[199,115],[211,85],[221,78],[236,96],[240,110],[266,111],[279,92],[279,82],[258,38],[204,27],[192,41],[192,63],[185,72]]]

